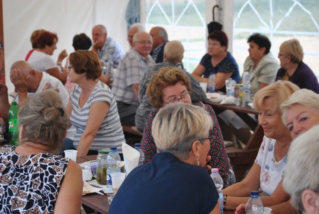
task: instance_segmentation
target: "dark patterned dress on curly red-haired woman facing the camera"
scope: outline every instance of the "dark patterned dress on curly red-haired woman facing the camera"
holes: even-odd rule
[[[224,181],[224,188],[226,188],[236,183],[236,178],[226,153],[223,135],[221,133],[216,114],[211,106],[204,105],[202,103],[194,103],[193,105],[204,107],[213,118],[214,127],[209,131],[209,133],[212,136],[215,136],[215,138],[211,143],[208,152],[208,155],[211,156],[211,160],[209,161],[208,165],[210,165],[212,168],[218,168],[219,174]],[[141,147],[145,154],[145,162],[150,162],[157,153],[154,138],[152,136],[152,123],[158,111],[159,109],[152,110],[145,123],[145,129],[141,141]]]

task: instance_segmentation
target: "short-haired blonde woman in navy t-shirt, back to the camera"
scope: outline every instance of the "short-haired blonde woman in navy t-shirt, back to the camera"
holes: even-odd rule
[[[161,108],[152,127],[158,154],[124,180],[110,214],[220,213],[216,187],[203,168],[214,138],[211,128],[212,118],[202,107]]]

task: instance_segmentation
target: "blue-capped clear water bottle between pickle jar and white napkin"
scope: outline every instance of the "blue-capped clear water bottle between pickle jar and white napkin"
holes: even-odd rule
[[[108,188],[112,188],[112,178],[111,174],[114,172],[121,172],[119,167],[121,162],[121,157],[117,152],[116,147],[111,147],[111,152],[107,156],[108,168],[106,170],[106,185]]]

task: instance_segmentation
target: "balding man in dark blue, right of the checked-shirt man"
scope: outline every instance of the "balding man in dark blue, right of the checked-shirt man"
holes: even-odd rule
[[[166,30],[162,27],[153,27],[150,31],[150,35],[153,39],[153,48],[151,55],[155,63],[163,61],[164,46],[168,41]]]

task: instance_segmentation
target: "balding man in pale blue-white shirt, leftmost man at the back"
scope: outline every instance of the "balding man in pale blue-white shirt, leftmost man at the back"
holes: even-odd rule
[[[98,54],[100,61],[106,64],[111,57],[114,67],[118,67],[124,51],[122,47],[111,37],[107,36],[106,27],[99,24],[92,29],[92,51]]]

